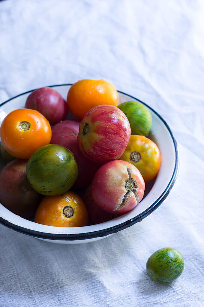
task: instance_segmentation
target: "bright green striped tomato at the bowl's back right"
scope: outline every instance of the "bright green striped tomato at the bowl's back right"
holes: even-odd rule
[[[132,134],[148,136],[152,126],[152,115],[147,107],[137,101],[127,101],[118,106],[127,116]]]

